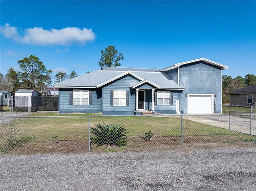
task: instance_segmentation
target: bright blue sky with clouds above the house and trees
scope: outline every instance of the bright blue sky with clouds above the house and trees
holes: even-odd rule
[[[0,1],[0,72],[35,55],[52,70],[100,69],[115,46],[121,67],[162,69],[205,57],[256,75],[256,1]],[[54,83],[54,80],[53,80]]]

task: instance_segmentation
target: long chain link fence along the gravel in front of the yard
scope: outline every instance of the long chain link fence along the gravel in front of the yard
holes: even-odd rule
[[[122,151],[256,143],[256,114],[0,117],[0,152]]]

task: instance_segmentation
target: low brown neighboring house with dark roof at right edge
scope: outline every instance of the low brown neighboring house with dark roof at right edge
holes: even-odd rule
[[[256,107],[256,84],[228,93],[230,105]]]

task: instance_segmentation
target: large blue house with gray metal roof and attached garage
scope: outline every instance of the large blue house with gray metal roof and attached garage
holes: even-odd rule
[[[60,83],[59,113],[140,115],[214,112],[222,104],[222,70],[229,67],[200,58],[164,69],[102,67]],[[217,113],[222,108],[215,108]]]

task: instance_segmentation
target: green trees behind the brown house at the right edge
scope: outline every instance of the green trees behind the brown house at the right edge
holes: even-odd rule
[[[256,84],[256,76],[253,74],[247,74],[244,78],[238,76],[232,78],[231,76],[222,76],[222,103],[229,103],[229,92],[236,91],[238,89],[244,88]]]

